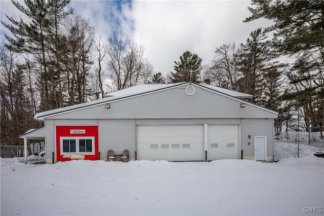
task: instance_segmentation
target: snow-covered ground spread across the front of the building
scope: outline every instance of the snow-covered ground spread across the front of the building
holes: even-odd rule
[[[323,215],[318,149],[275,145],[277,163],[1,159],[1,215]]]

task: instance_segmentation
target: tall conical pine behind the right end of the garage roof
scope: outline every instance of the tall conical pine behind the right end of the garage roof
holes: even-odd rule
[[[285,64],[274,61],[275,52],[262,28],[251,32],[237,63],[240,79],[237,85],[241,92],[254,95],[252,102],[277,111],[277,102],[282,84],[280,68]]]

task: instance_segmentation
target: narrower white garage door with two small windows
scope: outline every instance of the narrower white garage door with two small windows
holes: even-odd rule
[[[238,125],[208,125],[208,160],[238,157]]]

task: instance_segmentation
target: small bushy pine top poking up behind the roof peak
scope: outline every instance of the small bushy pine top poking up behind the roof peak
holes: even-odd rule
[[[180,61],[175,61],[174,70],[171,72],[170,79],[172,83],[191,82],[196,83],[199,80],[201,70],[201,61],[197,54],[186,51],[180,56]]]

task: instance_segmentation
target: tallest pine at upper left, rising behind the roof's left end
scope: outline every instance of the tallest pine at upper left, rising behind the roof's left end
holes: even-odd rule
[[[57,86],[60,84],[58,22],[70,13],[64,11],[69,2],[69,0],[25,0],[25,7],[18,1],[12,0],[14,6],[25,14],[30,22],[26,23],[22,19],[14,20],[7,14],[6,17],[10,24],[1,21],[13,34],[11,37],[5,33],[8,41],[5,46],[11,51],[30,53],[34,56],[41,96],[41,111],[62,105],[60,104],[62,100],[57,99],[61,93],[61,89],[57,92]]]

